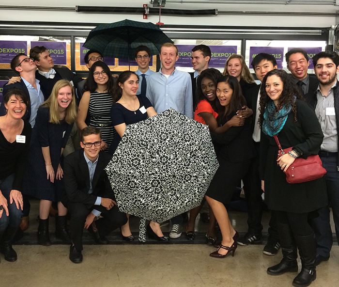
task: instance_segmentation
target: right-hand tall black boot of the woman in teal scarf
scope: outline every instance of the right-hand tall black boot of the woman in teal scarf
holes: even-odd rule
[[[309,286],[317,277],[315,257],[317,255],[314,233],[308,236],[295,236],[301,259],[301,271],[294,278],[293,286]]]

